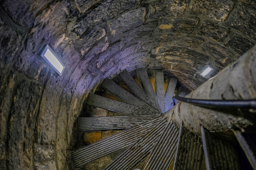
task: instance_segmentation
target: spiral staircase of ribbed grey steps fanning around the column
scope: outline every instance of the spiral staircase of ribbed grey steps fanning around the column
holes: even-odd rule
[[[163,71],[155,71],[153,79],[145,68],[137,74],[137,82],[126,70],[117,75],[126,90],[108,78],[103,81],[100,87],[115,100],[97,92],[89,94],[87,106],[113,114],[80,117],[79,131],[122,131],[72,151],[76,169],[88,169],[87,164],[104,162],[102,158],[111,154],[113,161],[104,169],[255,169],[254,134],[235,131],[236,138],[223,138],[203,126],[201,136],[193,134],[165,114],[179,102],[172,99],[174,93],[185,97],[189,91],[178,88],[177,79],[164,76]]]

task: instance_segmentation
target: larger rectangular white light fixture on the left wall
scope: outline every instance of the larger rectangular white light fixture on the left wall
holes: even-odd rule
[[[48,63],[48,65],[59,75],[62,75],[63,70],[65,69],[64,64],[60,61],[58,56],[54,51],[46,45],[42,50],[41,57]]]

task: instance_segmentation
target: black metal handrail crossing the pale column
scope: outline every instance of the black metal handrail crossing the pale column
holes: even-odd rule
[[[173,96],[186,103],[202,107],[224,107],[224,108],[250,108],[256,109],[256,100],[204,100],[204,99],[190,99],[180,96]]]

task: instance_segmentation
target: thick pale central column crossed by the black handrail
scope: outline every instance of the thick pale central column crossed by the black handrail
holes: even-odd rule
[[[186,98],[212,100],[256,99],[256,46],[234,63],[221,70]],[[184,125],[200,135],[200,125],[209,131],[228,133],[230,130],[255,130],[256,111],[253,109],[205,108],[179,102],[165,113],[178,126]]]

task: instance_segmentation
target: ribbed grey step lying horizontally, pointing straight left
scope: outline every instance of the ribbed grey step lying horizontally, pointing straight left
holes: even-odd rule
[[[160,116],[160,114],[143,116],[79,117],[78,130],[98,131],[129,129],[158,116]]]

